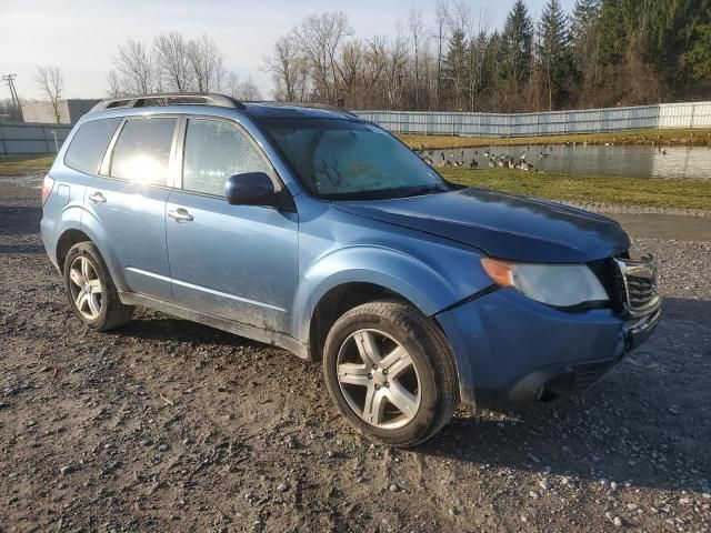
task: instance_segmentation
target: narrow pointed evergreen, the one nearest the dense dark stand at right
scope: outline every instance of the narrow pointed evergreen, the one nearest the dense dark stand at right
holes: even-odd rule
[[[549,0],[539,22],[538,56],[545,79],[550,110],[567,97],[565,86],[572,73],[570,52],[568,17],[560,0]]]

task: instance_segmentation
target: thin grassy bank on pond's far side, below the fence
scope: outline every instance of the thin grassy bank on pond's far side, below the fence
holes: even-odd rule
[[[711,147],[711,129],[629,130],[608,133],[579,133],[571,135],[468,138],[448,135],[401,134],[400,139],[410,148],[424,147],[425,150],[445,148],[477,148],[521,144],[562,144],[577,142],[588,144],[657,144]]]

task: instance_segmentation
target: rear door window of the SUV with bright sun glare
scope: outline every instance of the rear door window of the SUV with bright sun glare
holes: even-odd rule
[[[113,147],[109,175],[143,184],[164,185],[177,119],[129,119]]]

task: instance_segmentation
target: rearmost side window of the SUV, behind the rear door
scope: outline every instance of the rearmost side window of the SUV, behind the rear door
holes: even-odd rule
[[[64,154],[64,164],[79,172],[97,174],[119,122],[121,119],[101,119],[79,127]]]

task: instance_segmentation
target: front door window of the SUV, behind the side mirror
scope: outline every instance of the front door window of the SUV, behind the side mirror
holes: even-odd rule
[[[243,172],[271,174],[271,165],[240,128],[221,120],[190,119],[186,133],[182,188],[224,195],[224,182]]]

